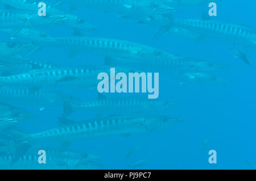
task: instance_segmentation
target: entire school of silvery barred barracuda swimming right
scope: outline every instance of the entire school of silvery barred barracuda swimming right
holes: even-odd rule
[[[101,159],[93,153],[69,150],[72,141],[94,137],[129,136],[167,129],[184,120],[175,116],[159,115],[169,112],[175,103],[170,100],[151,100],[136,96],[108,98],[98,95],[95,100],[85,100],[80,95],[68,95],[56,87],[80,87],[95,91],[98,73],[139,70],[159,72],[180,84],[199,83],[206,86],[226,86],[229,82],[214,75],[225,71],[225,62],[201,60],[200,57],[177,55],[133,41],[112,37],[87,37],[87,31],[100,31],[89,22],[89,17],[75,15],[77,8],[113,12],[113,18],[133,19],[159,29],[154,39],[163,33],[176,33],[196,41],[217,39],[247,47],[256,45],[256,31],[247,26],[216,22],[207,19],[179,19],[176,7],[193,8],[207,5],[205,0],[47,0],[47,15],[38,15],[36,0],[0,0],[5,9],[0,10],[0,32],[10,37],[0,41],[0,168],[1,169],[102,169]],[[68,5],[70,9],[64,9]],[[54,37],[38,28],[68,28],[73,36]],[[150,38],[152,38],[150,37]],[[17,39],[17,40],[16,40]],[[154,41],[154,40],[152,40]],[[235,45],[234,45],[235,46]],[[63,66],[54,60],[31,60],[45,47],[57,47],[68,52],[71,61],[79,54],[102,57],[103,65]],[[246,64],[246,55],[232,48]],[[56,54],[57,56],[57,54]],[[223,63],[223,64],[222,64]],[[13,106],[15,105],[15,106]],[[17,107],[16,105],[19,105]],[[59,127],[42,132],[24,133],[18,128],[24,121],[34,120],[35,112],[26,111],[30,105],[43,112],[52,107],[62,107],[63,115],[55,119]],[[69,120],[76,111],[96,114],[94,119]],[[148,113],[150,112],[150,113]],[[173,128],[171,128],[173,129]],[[171,130],[170,129],[170,130]],[[40,146],[42,142],[55,142],[58,148]],[[131,149],[126,161],[139,147]],[[38,150],[46,150],[47,164],[38,163]],[[123,161],[125,161],[125,159]],[[130,167],[146,164],[147,159]]]

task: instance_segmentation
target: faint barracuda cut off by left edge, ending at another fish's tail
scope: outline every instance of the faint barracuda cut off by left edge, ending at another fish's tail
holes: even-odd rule
[[[42,111],[49,106],[62,106],[63,101],[56,91],[31,90],[30,88],[0,88],[0,101],[13,104],[26,104],[39,107]]]

